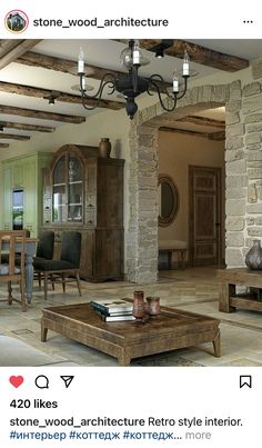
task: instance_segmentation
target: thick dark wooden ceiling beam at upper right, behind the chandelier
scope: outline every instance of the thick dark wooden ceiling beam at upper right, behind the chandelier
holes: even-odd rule
[[[155,52],[155,48],[161,44],[161,40],[159,39],[142,39],[139,42],[140,48],[144,48],[145,50],[153,52]],[[192,62],[212,67],[219,70],[234,72],[249,67],[249,61],[246,59],[222,53],[220,51],[211,50],[210,48],[179,39],[173,40],[173,43],[164,49],[164,54],[183,59],[184,51],[188,52]]]

